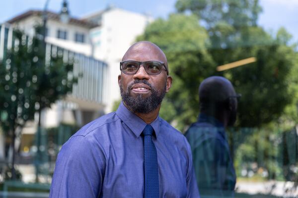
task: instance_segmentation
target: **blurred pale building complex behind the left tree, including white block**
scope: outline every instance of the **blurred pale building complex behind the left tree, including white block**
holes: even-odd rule
[[[67,58],[75,57],[74,75],[81,74],[82,77],[78,79],[71,96],[42,112],[42,126],[57,127],[60,123],[82,126],[111,112],[114,102],[120,99],[117,80],[119,62],[153,19],[113,6],[83,18],[70,17],[67,21],[61,20],[59,13],[29,10],[0,26],[0,59],[13,45],[14,29],[32,36],[35,26],[42,25],[45,16],[46,51],[62,49]],[[35,131],[36,122],[28,123],[22,133],[21,147],[30,147],[23,145],[30,142],[24,141],[24,137],[33,139]]]

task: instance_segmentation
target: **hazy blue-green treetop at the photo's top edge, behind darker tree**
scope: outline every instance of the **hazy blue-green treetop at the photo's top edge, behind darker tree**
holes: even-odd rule
[[[243,28],[257,26],[259,0],[177,0],[178,12],[191,12],[206,27],[213,48],[228,48]]]

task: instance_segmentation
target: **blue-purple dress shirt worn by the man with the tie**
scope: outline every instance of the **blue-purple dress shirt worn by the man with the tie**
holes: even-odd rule
[[[146,125],[121,103],[82,127],[58,154],[50,198],[143,198]],[[159,116],[150,125],[159,197],[199,198],[186,138]]]

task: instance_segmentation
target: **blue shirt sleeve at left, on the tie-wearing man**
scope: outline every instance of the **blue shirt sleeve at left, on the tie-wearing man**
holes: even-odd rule
[[[97,198],[101,193],[105,158],[84,136],[74,136],[58,154],[50,198]]]

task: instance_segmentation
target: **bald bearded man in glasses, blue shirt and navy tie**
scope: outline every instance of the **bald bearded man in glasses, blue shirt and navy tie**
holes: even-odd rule
[[[186,138],[158,116],[171,87],[155,44],[131,46],[120,63],[122,103],[62,147],[51,198],[198,198]]]

